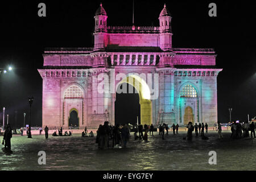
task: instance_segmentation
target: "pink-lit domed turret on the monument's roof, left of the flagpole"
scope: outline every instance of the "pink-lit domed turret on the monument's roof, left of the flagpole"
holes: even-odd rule
[[[94,20],[95,20],[95,27],[94,27],[94,51],[104,49],[105,47],[105,37],[106,37],[106,20],[108,16],[106,15],[106,11],[102,7],[102,3],[100,7],[97,9]]]

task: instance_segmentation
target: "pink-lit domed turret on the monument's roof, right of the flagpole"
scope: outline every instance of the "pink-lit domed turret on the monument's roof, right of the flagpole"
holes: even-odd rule
[[[171,14],[167,10],[166,5],[159,15],[160,23],[160,48],[163,51],[172,50],[172,30],[171,30]]]

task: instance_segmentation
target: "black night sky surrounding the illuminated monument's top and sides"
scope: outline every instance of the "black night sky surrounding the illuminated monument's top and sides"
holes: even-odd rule
[[[46,3],[47,16],[39,18],[38,4]],[[108,25],[131,26],[133,1],[7,1],[0,6],[0,67],[13,72],[0,76],[0,107],[10,123],[23,123],[27,98],[34,96],[32,123],[42,123],[42,78],[45,47],[92,47],[94,13],[102,2]],[[217,17],[208,16],[210,2]],[[217,53],[218,119],[244,121],[256,115],[256,15],[253,1],[138,1],[134,0],[135,25],[159,26],[166,3],[172,15],[174,47],[214,48]],[[27,114],[28,116],[28,114]],[[28,117],[27,117],[28,118]],[[28,121],[28,120],[27,120]],[[0,117],[2,122],[2,115]]]

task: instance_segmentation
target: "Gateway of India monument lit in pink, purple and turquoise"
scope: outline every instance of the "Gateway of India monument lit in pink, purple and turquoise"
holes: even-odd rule
[[[114,80],[115,88],[139,82],[142,125],[217,122],[217,75],[222,69],[215,67],[214,49],[174,48],[166,5],[158,27],[108,26],[107,18],[101,4],[94,16],[94,47],[45,49],[43,69],[38,70],[43,78],[43,127],[67,128],[74,114],[80,128],[96,129],[104,121],[115,125],[115,90],[97,90],[102,73],[109,80],[113,73],[126,75]],[[157,98],[145,93],[147,80],[135,76],[142,73],[158,74]]]

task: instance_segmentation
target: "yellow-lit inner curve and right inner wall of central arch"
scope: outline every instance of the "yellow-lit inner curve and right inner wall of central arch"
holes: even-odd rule
[[[137,90],[139,94],[139,104],[141,105],[141,124],[151,125],[152,123],[152,102],[150,100],[150,88],[148,87],[146,81],[137,75],[129,75],[123,78],[116,85],[116,92],[120,84],[127,83],[130,84]]]

